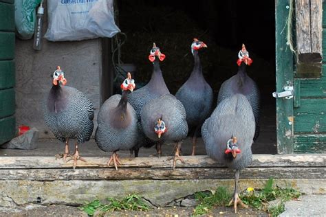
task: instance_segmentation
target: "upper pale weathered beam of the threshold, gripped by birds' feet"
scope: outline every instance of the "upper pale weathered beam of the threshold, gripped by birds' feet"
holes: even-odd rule
[[[78,161],[77,168],[108,168],[105,157],[85,157],[87,162]],[[206,155],[183,156],[185,163],[177,161],[177,168],[225,168]],[[171,169],[171,157],[122,158],[120,168]],[[326,155],[253,155],[250,168],[303,168],[325,167]],[[0,157],[0,170],[15,169],[62,169],[72,168],[55,157]],[[110,166],[110,168],[113,168]]]

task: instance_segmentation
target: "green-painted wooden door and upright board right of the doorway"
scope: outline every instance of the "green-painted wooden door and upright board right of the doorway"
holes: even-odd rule
[[[323,73],[296,78],[294,55],[287,45],[290,0],[276,5],[276,92],[294,87],[294,98],[276,98],[279,154],[326,152],[326,3],[323,3]]]

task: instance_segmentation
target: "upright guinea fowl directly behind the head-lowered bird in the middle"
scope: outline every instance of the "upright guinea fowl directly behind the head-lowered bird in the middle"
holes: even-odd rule
[[[133,91],[128,95],[128,102],[135,109],[137,117],[138,117],[138,126],[140,128],[140,133],[143,135],[142,142],[139,142],[136,146],[133,147],[133,151],[135,152],[135,157],[138,157],[138,151],[141,147],[150,148],[155,143],[150,139],[146,138],[144,133],[142,132],[142,122],[140,119],[142,108],[144,105],[152,100],[153,98],[158,98],[161,95],[169,94],[170,91],[166,87],[164,82],[164,78],[162,76],[162,71],[160,69],[160,62],[163,61],[165,55],[160,52],[160,48],[156,47],[155,43],[153,43],[153,48],[149,54],[149,60],[153,62],[153,73],[151,76],[151,80],[142,88]],[[160,150],[157,150],[160,155]]]

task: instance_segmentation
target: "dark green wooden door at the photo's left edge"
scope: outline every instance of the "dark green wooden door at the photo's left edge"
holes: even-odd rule
[[[0,144],[16,133],[14,40],[14,1],[0,0]]]

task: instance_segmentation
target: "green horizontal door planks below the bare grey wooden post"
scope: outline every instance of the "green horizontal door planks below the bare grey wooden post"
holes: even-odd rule
[[[294,152],[326,152],[326,3],[323,3],[323,67],[320,78],[294,73]]]

